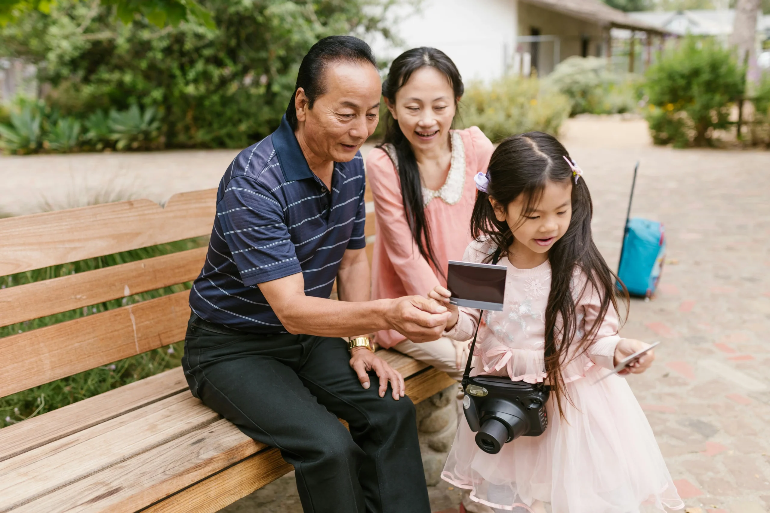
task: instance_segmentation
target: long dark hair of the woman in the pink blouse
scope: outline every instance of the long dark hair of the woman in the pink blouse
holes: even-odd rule
[[[447,54],[423,46],[421,48],[412,48],[399,55],[390,65],[390,71],[383,82],[383,97],[387,98],[390,105],[396,105],[396,93],[404,84],[409,82],[413,72],[424,66],[436,68],[447,77],[454,92],[454,102],[457,107],[457,99],[463,95],[463,80],[457,66]],[[401,198],[403,200],[403,211],[407,216],[409,228],[412,232],[414,242],[420,249],[420,255],[428,261],[430,265],[444,275],[442,266],[436,261],[433,246],[430,244],[430,226],[425,218],[425,208],[423,206],[423,188],[420,180],[420,170],[417,168],[417,158],[414,157],[412,146],[409,140],[401,132],[398,122],[393,119],[390,112],[387,112],[385,119],[385,138],[383,144],[393,145],[396,149],[398,176],[401,182]],[[382,148],[383,145],[377,146]]]

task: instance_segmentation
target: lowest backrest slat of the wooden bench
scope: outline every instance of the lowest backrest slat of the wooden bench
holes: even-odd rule
[[[0,338],[0,397],[180,341],[189,291]]]

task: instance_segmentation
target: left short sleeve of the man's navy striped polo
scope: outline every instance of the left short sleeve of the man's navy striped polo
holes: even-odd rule
[[[302,272],[283,216],[283,207],[262,185],[238,176],[216,205],[243,285],[251,286]],[[216,236],[216,235],[215,235]]]

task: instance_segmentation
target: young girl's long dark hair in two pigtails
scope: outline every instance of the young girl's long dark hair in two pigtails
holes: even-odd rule
[[[547,182],[573,180],[572,170],[564,157],[570,158],[564,146],[543,132],[514,135],[501,142],[490,159],[487,193],[478,192],[476,197],[470,221],[474,238],[488,238],[492,245],[501,249],[501,256],[507,256],[514,234],[507,221],[497,220],[489,197],[506,208],[519,195],[524,195],[526,202],[522,215],[527,215],[534,210]],[[615,285],[618,277],[602,258],[591,236],[593,205],[583,178],[573,182],[571,203],[572,218],[567,232],[548,252],[551,292],[545,310],[545,370],[561,415],[564,415],[562,399],[565,394],[562,366],[569,362],[570,355],[581,355],[588,348],[608,309],[618,309],[618,288]],[[575,291],[572,289],[576,270],[582,271],[588,278],[584,289],[577,291],[577,297],[584,294],[589,286],[601,297],[597,320],[594,325],[586,327],[583,337],[577,341],[574,339],[579,326],[575,314]],[[628,292],[622,284],[621,288],[622,298],[628,305]]]

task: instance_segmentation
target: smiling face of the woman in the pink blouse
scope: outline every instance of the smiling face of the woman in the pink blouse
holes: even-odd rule
[[[396,93],[396,105],[386,102],[414,150],[424,152],[448,140],[457,108],[449,79],[436,68],[413,72]]]

